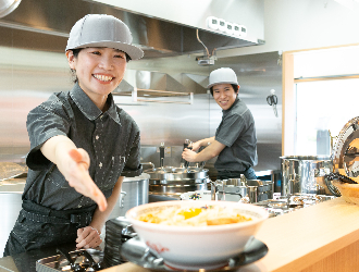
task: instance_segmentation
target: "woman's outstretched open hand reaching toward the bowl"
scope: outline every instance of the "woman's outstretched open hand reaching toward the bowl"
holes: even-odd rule
[[[70,163],[70,170],[67,172],[66,181],[71,187],[74,187],[76,191],[83,194],[86,197],[91,198],[97,202],[99,210],[104,211],[108,203],[102,191],[94,183],[88,173],[89,157],[88,153],[82,149],[71,149],[69,152],[74,163]]]

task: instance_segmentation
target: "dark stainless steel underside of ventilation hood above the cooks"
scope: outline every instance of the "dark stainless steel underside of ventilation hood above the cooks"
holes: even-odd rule
[[[83,0],[22,1],[16,10],[0,18],[0,46],[63,52],[71,27],[88,13],[111,14],[125,22],[134,44],[145,51],[145,59],[203,52],[194,27]],[[199,37],[210,52],[264,42],[207,30],[199,30]]]

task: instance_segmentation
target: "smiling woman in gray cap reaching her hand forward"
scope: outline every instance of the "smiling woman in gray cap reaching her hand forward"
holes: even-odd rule
[[[66,57],[77,81],[27,115],[29,170],[4,256],[102,243],[124,176],[141,173],[139,128],[111,95],[127,61],[143,57],[131,42],[128,27],[114,16],[90,14],[73,26]]]

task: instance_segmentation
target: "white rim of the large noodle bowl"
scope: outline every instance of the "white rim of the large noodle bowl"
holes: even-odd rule
[[[261,218],[253,218],[251,221],[247,222],[238,222],[233,224],[223,224],[223,225],[211,225],[211,226],[176,226],[176,225],[161,225],[161,224],[153,224],[144,222],[140,220],[135,219],[132,214],[136,213],[138,210],[151,208],[151,207],[162,207],[162,206],[202,206],[202,205],[216,205],[216,206],[230,206],[230,207],[237,207],[237,208],[244,208],[245,210],[255,211],[261,215]],[[247,209],[246,209],[247,208]],[[249,209],[248,209],[249,208]],[[169,201],[159,201],[159,202],[151,202],[151,203],[145,203],[137,207],[133,207],[129,210],[127,210],[125,218],[128,219],[128,221],[134,225],[140,227],[140,228],[147,228],[152,231],[164,231],[164,232],[176,232],[176,233],[190,233],[190,232],[218,232],[218,231],[234,231],[238,228],[249,227],[252,225],[260,224],[265,219],[269,218],[269,212],[263,208],[259,206],[255,206],[252,203],[239,203],[239,202],[232,202],[232,201],[215,201],[215,200],[169,200]]]

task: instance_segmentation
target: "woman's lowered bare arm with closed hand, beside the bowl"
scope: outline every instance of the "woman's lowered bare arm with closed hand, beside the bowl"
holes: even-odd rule
[[[98,247],[102,239],[100,237],[101,230],[109,218],[111,211],[113,210],[115,203],[121,194],[121,186],[124,176],[120,176],[116,184],[113,187],[111,196],[108,200],[108,208],[101,212],[98,208],[96,209],[91,223],[83,228],[77,230],[77,239],[76,247],[77,248],[95,248]]]

